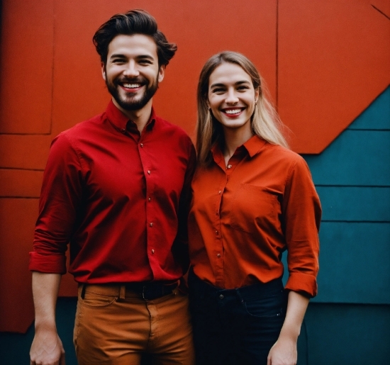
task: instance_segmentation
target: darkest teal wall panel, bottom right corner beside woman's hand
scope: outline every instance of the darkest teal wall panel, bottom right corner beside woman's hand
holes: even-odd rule
[[[311,303],[305,317],[310,365],[390,364],[390,306]],[[306,365],[300,361],[298,365]]]

